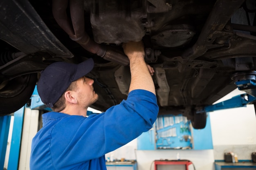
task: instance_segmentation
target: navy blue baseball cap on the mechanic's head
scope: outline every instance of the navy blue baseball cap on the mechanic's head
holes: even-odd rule
[[[70,84],[92,71],[92,58],[79,64],[55,62],[41,73],[37,84],[37,91],[42,102],[52,108],[65,93]]]

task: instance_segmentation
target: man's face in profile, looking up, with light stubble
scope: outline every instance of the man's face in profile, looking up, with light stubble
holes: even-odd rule
[[[93,83],[94,80],[88,77],[81,77],[80,79],[76,80],[76,93],[78,96],[78,102],[79,105],[84,108],[88,108],[99,98],[93,89]]]

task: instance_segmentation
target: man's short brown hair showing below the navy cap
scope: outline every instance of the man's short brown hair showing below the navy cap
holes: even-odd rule
[[[74,81],[70,84],[70,86],[68,86],[66,91],[75,91],[76,88],[77,88],[76,81]],[[54,112],[60,112],[61,110],[63,110],[66,107],[66,104],[65,104],[66,99],[64,96],[66,91],[61,95],[61,97],[58,99],[58,101],[51,108]]]

